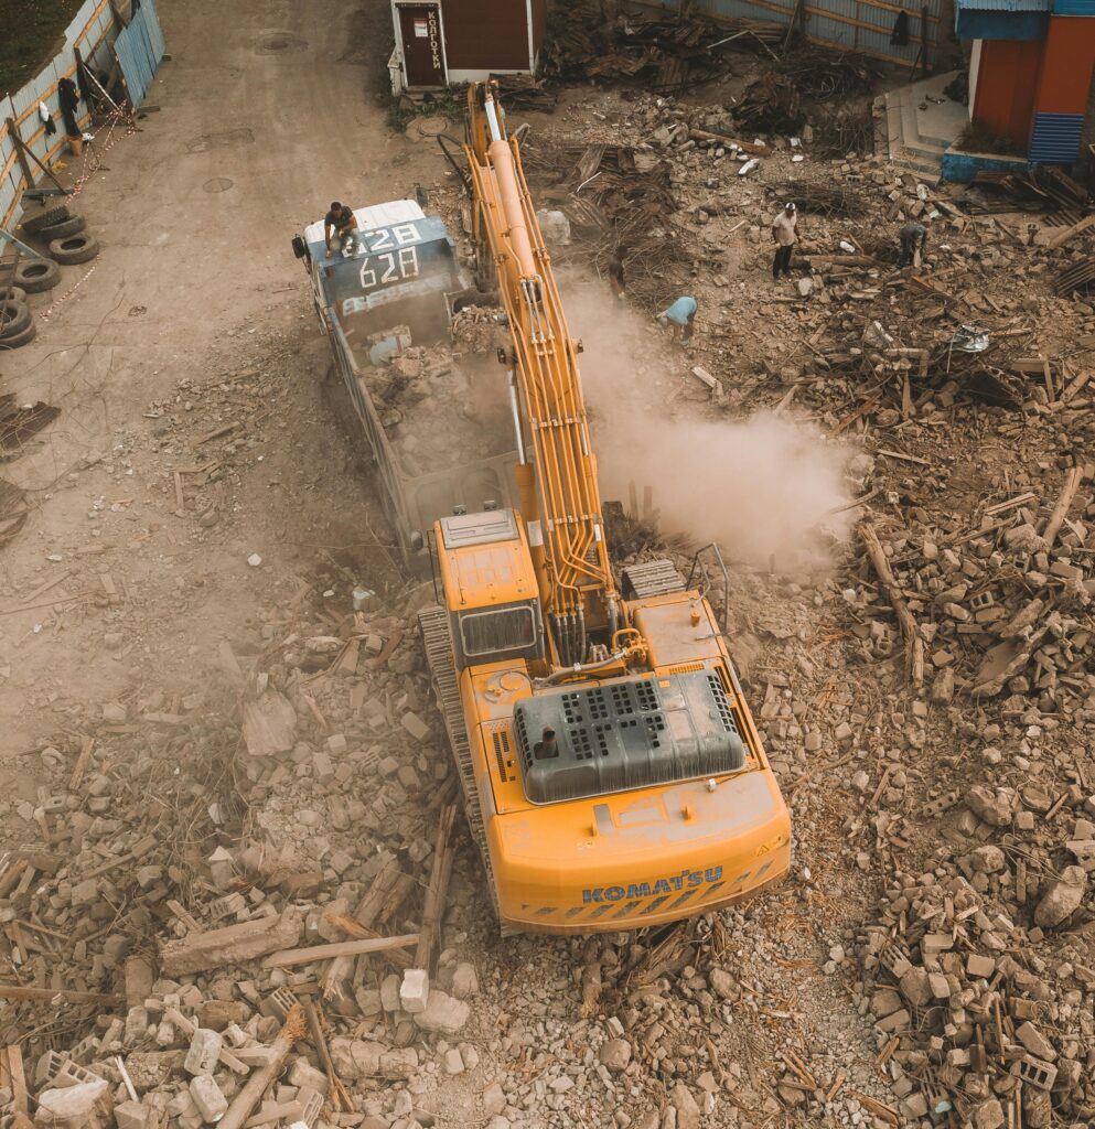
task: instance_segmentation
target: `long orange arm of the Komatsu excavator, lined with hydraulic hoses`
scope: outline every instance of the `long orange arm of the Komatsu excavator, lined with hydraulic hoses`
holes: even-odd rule
[[[472,84],[467,99],[473,237],[481,261],[489,253],[513,342],[522,516],[555,665],[573,666],[587,658],[592,629],[606,630],[615,650],[621,628],[578,373],[580,347],[563,315],[520,148],[506,135],[494,84]]]

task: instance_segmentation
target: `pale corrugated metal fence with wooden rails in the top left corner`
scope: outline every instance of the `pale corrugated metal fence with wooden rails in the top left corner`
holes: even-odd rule
[[[9,97],[0,98],[0,226],[9,228],[21,211],[19,194],[27,186],[9,135],[8,119],[14,119],[19,137],[43,164],[47,165],[64,148],[64,123],[58,103],[58,82],[62,78],[76,79],[76,55],[79,49],[84,60],[97,71],[110,71],[114,64],[111,44],[117,35],[114,11],[110,0],[87,0],[64,33],[64,46],[43,70]],[[46,134],[38,117],[38,103],[44,102],[53,115],[58,131]],[[90,120],[81,102],[78,123],[86,129]],[[33,163],[32,163],[33,164]],[[38,177],[41,180],[41,176]]]

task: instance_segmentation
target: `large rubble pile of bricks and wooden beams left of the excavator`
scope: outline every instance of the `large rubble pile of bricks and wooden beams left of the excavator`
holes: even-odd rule
[[[435,832],[454,777],[413,610],[366,597],[41,751],[54,786],[10,813],[41,843],[0,863],[0,1117],[405,1129],[441,1060],[476,1061],[446,1042],[475,969],[437,944],[472,892]]]

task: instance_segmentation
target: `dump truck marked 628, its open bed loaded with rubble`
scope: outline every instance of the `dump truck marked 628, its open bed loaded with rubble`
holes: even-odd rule
[[[323,220],[292,247],[376,463],[396,545],[422,572],[439,517],[516,501],[505,391],[484,378],[482,349],[453,348],[454,325],[478,312],[489,320],[494,297],[468,283],[444,220],[414,200],[353,213],[360,247],[328,248]]]

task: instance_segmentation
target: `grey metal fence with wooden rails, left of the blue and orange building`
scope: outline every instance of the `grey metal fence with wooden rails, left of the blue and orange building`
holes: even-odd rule
[[[680,8],[683,0],[667,0],[665,7]],[[1093,0],[1095,2],[1095,0]],[[795,0],[697,0],[695,7],[713,16],[747,17],[789,24],[796,14]],[[948,29],[940,27],[944,0],[928,0],[927,59],[935,61],[936,44]],[[885,0],[804,0],[803,23],[807,38],[887,62],[911,67],[920,50],[921,5],[887,3]],[[909,20],[909,42],[890,42],[894,25],[904,11]],[[921,60],[922,61],[922,60]]]

